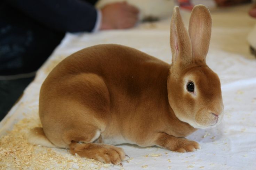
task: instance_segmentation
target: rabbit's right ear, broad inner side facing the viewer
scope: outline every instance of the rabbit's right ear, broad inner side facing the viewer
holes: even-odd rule
[[[205,61],[211,39],[211,15],[206,6],[196,5],[189,20],[189,36],[194,59]]]

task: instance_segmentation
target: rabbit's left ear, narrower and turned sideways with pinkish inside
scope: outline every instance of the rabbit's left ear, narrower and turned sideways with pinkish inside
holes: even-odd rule
[[[175,6],[171,17],[170,45],[172,65],[186,67],[192,61],[192,48],[189,33],[185,28],[179,7]]]

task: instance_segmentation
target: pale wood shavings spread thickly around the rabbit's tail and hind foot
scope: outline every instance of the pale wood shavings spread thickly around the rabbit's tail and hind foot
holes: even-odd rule
[[[40,127],[39,118],[20,120],[7,135],[0,137],[0,169],[101,169],[104,164],[93,159],[80,158],[69,150],[35,146],[27,142],[27,133]]]

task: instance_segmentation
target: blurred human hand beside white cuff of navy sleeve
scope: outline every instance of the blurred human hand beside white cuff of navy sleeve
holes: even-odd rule
[[[126,2],[117,2],[104,6],[101,13],[100,29],[123,29],[136,24],[139,10]]]

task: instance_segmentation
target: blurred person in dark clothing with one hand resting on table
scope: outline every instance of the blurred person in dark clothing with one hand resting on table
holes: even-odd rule
[[[0,0],[0,120],[66,32],[133,27],[138,9],[126,2],[101,10],[93,0]]]

